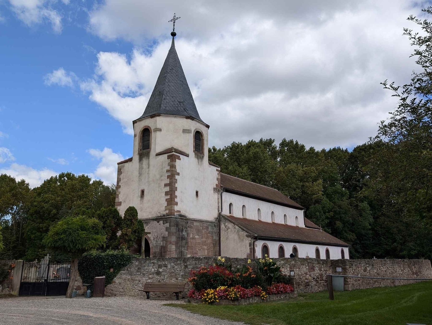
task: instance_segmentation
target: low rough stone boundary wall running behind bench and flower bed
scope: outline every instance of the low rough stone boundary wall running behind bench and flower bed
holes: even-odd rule
[[[247,259],[225,258],[235,268],[247,263]],[[282,271],[289,274],[294,271],[294,289],[296,292],[317,292],[327,290],[327,274],[360,275],[386,278],[432,278],[429,260],[418,259],[274,259],[282,266]],[[147,281],[152,282],[187,282],[191,270],[208,266],[214,257],[187,258],[146,258],[133,259],[132,263],[120,271],[113,283],[105,289],[106,296],[145,296],[142,290]],[[336,272],[336,268],[342,268]],[[392,281],[345,278],[345,290],[371,287],[394,286],[414,281]],[[186,292],[191,289],[186,285]],[[174,298],[173,294],[151,293],[151,297]]]

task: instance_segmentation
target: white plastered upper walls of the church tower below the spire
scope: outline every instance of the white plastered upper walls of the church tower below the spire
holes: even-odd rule
[[[151,133],[151,149],[145,153],[139,153],[140,132],[149,126]],[[121,167],[121,187],[119,189],[119,212],[123,215],[130,205],[138,210],[138,217],[154,218],[165,215],[165,183],[168,183],[167,172],[168,159],[163,154],[156,153],[174,147],[189,154],[189,157],[179,155],[181,160],[176,161],[176,176],[178,182],[177,210],[181,215],[190,218],[213,220],[218,215],[218,194],[213,192],[217,182],[216,167],[208,164],[208,129],[196,120],[186,119],[181,116],[161,115],[146,117],[134,124],[133,160],[118,165]],[[203,134],[203,155],[194,153],[194,131],[199,130]],[[144,197],[141,190],[144,189]],[[195,191],[198,190],[198,198]]]

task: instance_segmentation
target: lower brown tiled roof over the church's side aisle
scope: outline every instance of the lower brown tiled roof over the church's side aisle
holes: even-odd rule
[[[232,215],[223,215],[233,224],[241,227],[248,233],[259,239],[284,240],[289,242],[303,242],[312,244],[328,244],[333,246],[349,246],[325,231],[304,227],[291,226],[289,224],[277,224],[274,222],[257,221],[246,218],[237,218]]]

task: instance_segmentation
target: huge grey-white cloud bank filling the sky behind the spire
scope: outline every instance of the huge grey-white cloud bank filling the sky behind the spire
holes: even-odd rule
[[[95,77],[81,84],[129,134],[168,53],[171,40],[160,32],[168,29],[170,3],[106,0],[90,13],[95,34],[136,44],[131,54],[100,52]],[[415,67],[401,34],[414,28],[406,18],[419,14],[418,6],[186,2],[177,13],[176,49],[200,117],[211,126],[210,145],[286,137],[317,148],[350,147],[374,136],[397,104],[379,83],[403,84]],[[157,40],[151,51],[141,47],[143,39]]]

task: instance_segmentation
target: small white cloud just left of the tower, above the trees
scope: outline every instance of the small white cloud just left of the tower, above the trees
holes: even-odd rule
[[[119,153],[114,153],[111,148],[104,150],[89,149],[89,154],[101,160],[96,170],[89,174],[92,178],[98,178],[105,184],[117,183],[117,163],[124,158]]]

